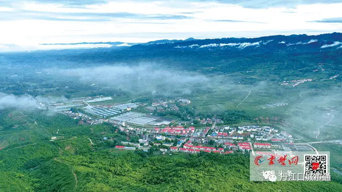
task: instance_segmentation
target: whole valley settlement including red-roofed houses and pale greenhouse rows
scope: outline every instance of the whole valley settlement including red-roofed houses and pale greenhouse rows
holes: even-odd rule
[[[89,102],[89,101],[88,101]],[[97,125],[108,123],[117,128],[117,132],[125,133],[127,139],[116,143],[115,149],[148,151],[157,153],[198,153],[213,152],[219,154],[248,153],[264,151],[271,154],[275,151],[313,151],[308,146],[296,146],[291,134],[276,128],[261,125],[228,126],[219,118],[189,118],[187,121],[157,117],[152,113],[137,112],[144,109],[152,112],[158,110],[179,110],[175,102],[181,106],[191,101],[160,101],[147,103],[126,103],[115,106],[94,105],[84,107],[81,112],[72,109],[60,110],[58,113],[73,119],[79,119],[81,125]],[[158,108],[159,107],[159,108]],[[102,117],[102,118],[101,118]],[[194,125],[194,121],[199,124]],[[139,137],[139,142],[130,142],[131,136]],[[103,137],[102,140],[113,141],[116,138]]]

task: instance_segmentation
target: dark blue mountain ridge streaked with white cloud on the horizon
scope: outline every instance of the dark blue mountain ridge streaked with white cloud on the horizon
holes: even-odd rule
[[[221,38],[186,40],[159,40],[137,44],[132,49],[180,49],[180,50],[227,50],[227,51],[312,51],[342,48],[342,33],[322,35],[276,35],[259,38]]]

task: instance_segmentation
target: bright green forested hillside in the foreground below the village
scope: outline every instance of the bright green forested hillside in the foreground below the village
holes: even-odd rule
[[[342,191],[336,175],[334,181],[249,181],[243,154],[113,154],[79,143],[87,146],[75,139],[0,151],[0,191]]]

